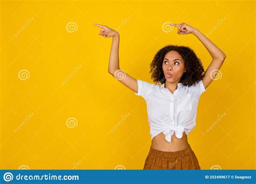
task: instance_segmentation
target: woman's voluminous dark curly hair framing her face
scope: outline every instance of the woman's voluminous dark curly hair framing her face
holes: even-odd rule
[[[192,86],[203,79],[204,67],[193,49],[185,46],[167,45],[159,49],[150,64],[151,79],[155,83],[159,82],[163,84],[166,81],[163,71],[163,61],[165,54],[170,51],[177,51],[185,61],[186,72],[180,79],[180,82],[184,86]]]

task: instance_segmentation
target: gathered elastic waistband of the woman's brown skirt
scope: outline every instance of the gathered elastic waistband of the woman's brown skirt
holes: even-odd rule
[[[153,154],[158,157],[177,158],[177,157],[184,157],[185,155],[191,154],[192,152],[193,151],[190,145],[185,150],[173,151],[173,152],[155,150],[154,148],[152,148],[152,146],[150,146],[149,154]]]

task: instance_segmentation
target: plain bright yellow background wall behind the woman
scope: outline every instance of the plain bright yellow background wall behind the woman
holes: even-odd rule
[[[107,73],[112,38],[93,23],[118,29],[120,68],[136,79],[153,83],[167,44],[193,48],[206,70],[203,44],[166,22],[196,27],[227,55],[188,135],[201,169],[255,169],[254,1],[1,1],[1,169],[142,169],[146,103]]]

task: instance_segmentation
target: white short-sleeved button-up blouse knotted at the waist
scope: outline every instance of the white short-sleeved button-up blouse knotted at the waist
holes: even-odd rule
[[[175,132],[177,138],[188,135],[196,126],[197,107],[201,94],[205,91],[203,81],[194,86],[178,83],[172,94],[165,84],[152,84],[138,80],[138,93],[147,104],[147,116],[150,125],[151,140],[163,132],[165,139],[171,142]]]

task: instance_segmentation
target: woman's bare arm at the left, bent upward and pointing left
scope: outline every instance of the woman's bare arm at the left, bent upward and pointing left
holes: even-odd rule
[[[138,82],[136,79],[128,75],[124,72],[124,70],[119,67],[119,33],[115,30],[112,30],[110,27],[93,24],[102,28],[100,30],[99,35],[110,38],[112,37],[112,45],[109,57],[109,73],[114,76],[118,81],[123,83],[126,87],[133,90],[134,92],[138,92]]]

